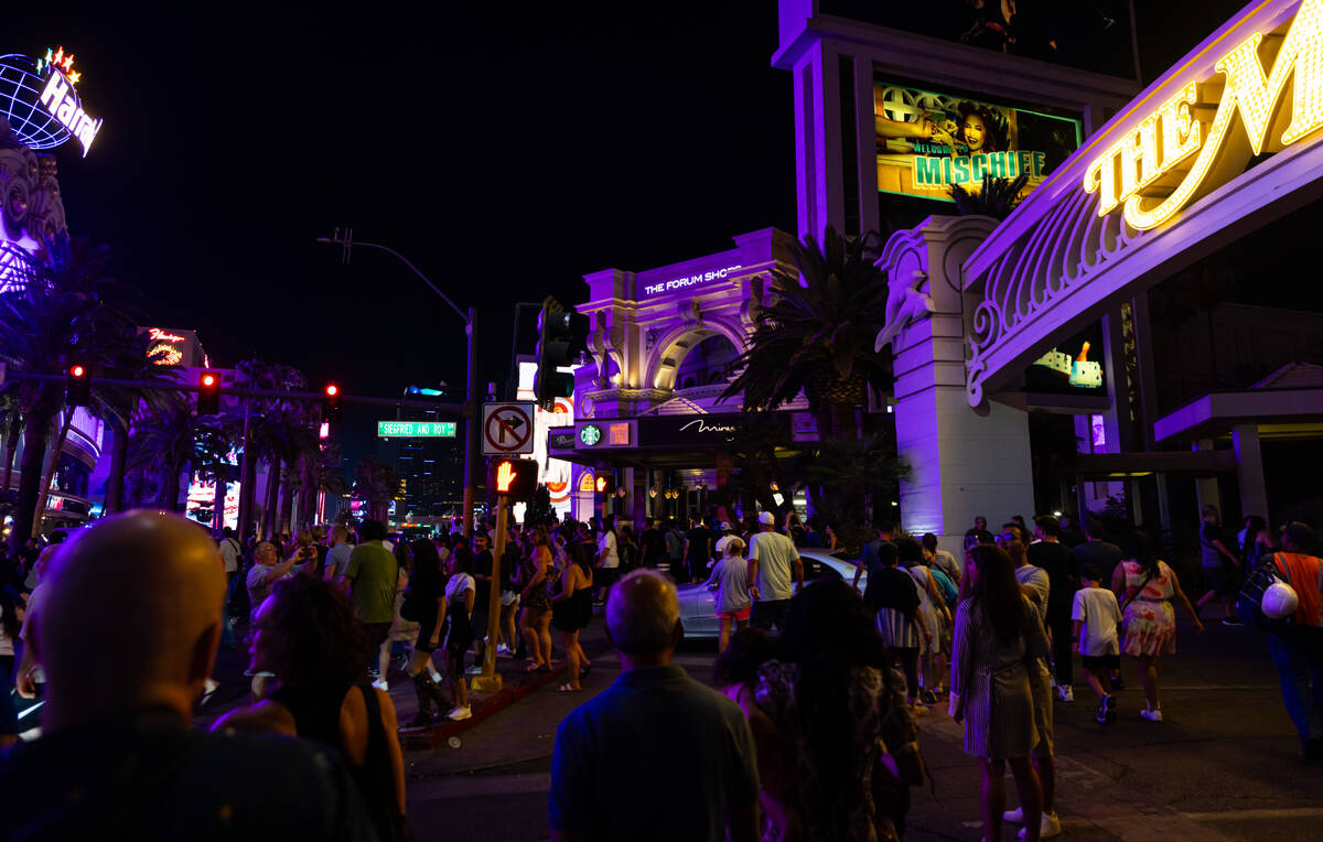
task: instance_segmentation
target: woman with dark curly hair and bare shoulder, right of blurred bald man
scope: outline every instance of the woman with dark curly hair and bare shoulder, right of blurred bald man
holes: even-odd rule
[[[349,599],[315,576],[275,584],[253,619],[249,669],[280,682],[213,731],[269,731],[340,752],[382,839],[405,827],[405,767],[390,697],[361,681],[366,631]]]

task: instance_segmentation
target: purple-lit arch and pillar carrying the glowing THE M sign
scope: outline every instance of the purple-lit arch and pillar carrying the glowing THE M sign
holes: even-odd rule
[[[1004,390],[1082,326],[1103,321],[1109,367],[1123,333],[1140,346],[1147,403],[1143,293],[1323,196],[1320,130],[1323,0],[1269,0],[1118,111],[1005,222],[931,217],[894,234],[878,262],[892,286],[880,341],[893,344],[897,439],[914,469],[905,525],[958,535],[974,514],[1033,510],[1025,395]],[[1111,374],[1113,452],[1151,448],[1151,423],[1125,440],[1131,397]],[[1201,459],[1163,456],[1188,457],[1175,469]]]

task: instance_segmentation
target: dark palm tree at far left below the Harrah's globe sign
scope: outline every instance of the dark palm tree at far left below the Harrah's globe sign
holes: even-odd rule
[[[48,444],[65,404],[60,378],[75,361],[97,375],[107,342],[134,324],[118,284],[105,276],[107,255],[105,246],[87,241],[48,239],[44,260],[34,263],[38,280],[0,297],[0,360],[13,371],[57,378],[24,379],[13,387],[24,436],[13,546],[22,546],[37,521]],[[50,453],[53,464],[58,456]]]

